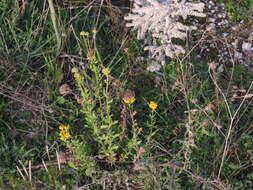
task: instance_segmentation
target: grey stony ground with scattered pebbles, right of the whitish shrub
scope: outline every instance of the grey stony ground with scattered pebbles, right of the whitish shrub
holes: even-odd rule
[[[202,2],[206,5],[207,16],[204,21],[193,21],[198,26],[195,39],[199,44],[197,58],[218,64],[239,63],[253,71],[253,26],[248,24],[253,21],[253,16],[247,21],[233,22],[228,19],[223,3]]]

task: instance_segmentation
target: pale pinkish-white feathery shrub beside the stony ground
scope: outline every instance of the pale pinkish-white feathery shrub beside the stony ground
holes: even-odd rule
[[[185,53],[182,46],[172,43],[173,38],[184,40],[187,31],[196,29],[179,22],[187,16],[205,17],[204,3],[186,2],[186,0],[134,0],[132,12],[125,17],[127,27],[137,30],[138,39],[151,36],[144,48],[155,60],[147,69],[157,71],[165,63],[165,57],[173,58]]]

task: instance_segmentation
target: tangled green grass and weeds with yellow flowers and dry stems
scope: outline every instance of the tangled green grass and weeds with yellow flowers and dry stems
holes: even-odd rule
[[[54,10],[0,6],[0,189],[252,189],[252,72],[150,73],[110,1]]]

